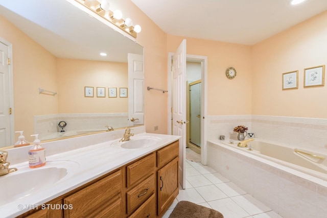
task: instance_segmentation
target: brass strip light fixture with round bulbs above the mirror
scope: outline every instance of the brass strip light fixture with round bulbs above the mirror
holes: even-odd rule
[[[120,10],[111,11],[109,0],[97,0],[97,1],[88,1],[88,0],[75,0],[91,11],[96,12],[98,15],[104,19],[111,22],[114,26],[120,28],[124,32],[137,37],[137,33],[141,32],[141,26],[135,25],[133,27],[133,21],[131,18],[123,19],[123,14]]]

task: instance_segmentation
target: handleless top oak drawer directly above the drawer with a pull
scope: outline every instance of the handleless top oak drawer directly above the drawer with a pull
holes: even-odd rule
[[[149,156],[142,158],[128,165],[127,168],[127,188],[143,180],[149,175],[153,174],[155,167],[155,156],[150,154]]]

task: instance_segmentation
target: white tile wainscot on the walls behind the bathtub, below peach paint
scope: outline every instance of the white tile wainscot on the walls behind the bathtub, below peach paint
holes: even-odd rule
[[[255,137],[282,143],[288,147],[305,148],[327,154],[327,119],[266,116],[225,115],[208,116],[207,139],[219,139],[220,135],[237,140],[233,127],[245,125]]]

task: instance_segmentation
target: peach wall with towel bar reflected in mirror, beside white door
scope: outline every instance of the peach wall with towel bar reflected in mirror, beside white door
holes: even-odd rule
[[[0,37],[11,42],[13,50],[14,129],[24,130],[27,140],[32,140],[34,115],[58,113],[58,96],[38,93],[39,87],[57,89],[56,58],[2,16],[0,29]]]

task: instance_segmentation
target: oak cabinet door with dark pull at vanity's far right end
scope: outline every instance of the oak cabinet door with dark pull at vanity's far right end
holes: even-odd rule
[[[178,195],[178,160],[176,157],[158,171],[158,215],[167,210]]]

